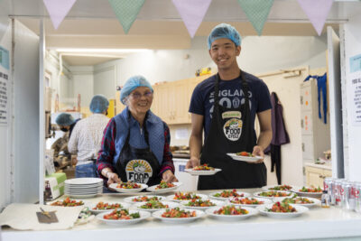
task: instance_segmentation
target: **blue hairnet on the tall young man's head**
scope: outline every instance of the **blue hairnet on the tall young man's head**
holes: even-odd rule
[[[212,29],[212,32],[209,33],[208,50],[210,50],[212,42],[218,39],[229,39],[236,44],[236,47],[241,45],[241,35],[233,26],[227,23],[218,24],[214,27],[214,29]]]

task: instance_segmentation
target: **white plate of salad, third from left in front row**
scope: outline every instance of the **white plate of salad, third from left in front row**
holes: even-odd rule
[[[206,213],[212,217],[223,221],[235,221],[249,218],[258,213],[256,209],[249,207],[237,207],[235,205],[226,205],[207,209]]]

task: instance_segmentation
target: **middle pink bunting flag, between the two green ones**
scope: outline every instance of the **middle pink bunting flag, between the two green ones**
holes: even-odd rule
[[[212,0],[171,0],[193,38]]]

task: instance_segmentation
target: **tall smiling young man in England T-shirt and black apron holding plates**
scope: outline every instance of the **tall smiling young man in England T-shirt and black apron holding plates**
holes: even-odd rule
[[[239,69],[236,57],[240,44],[239,33],[229,24],[219,24],[210,32],[208,51],[218,74],[199,83],[190,100],[192,132],[187,168],[208,163],[222,169],[215,176],[199,176],[199,190],[259,188],[267,181],[263,160],[239,162],[227,156],[248,152],[264,157],[272,139],[269,90],[261,79]],[[255,114],[261,127],[258,141]]]

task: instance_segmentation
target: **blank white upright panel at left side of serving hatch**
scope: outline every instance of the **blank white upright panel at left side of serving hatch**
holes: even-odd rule
[[[39,37],[14,26],[14,201],[39,200]]]

